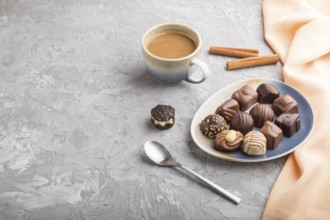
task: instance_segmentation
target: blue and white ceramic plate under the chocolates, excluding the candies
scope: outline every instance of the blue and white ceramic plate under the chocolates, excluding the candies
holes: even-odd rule
[[[290,138],[283,137],[282,142],[277,148],[274,150],[267,150],[266,154],[263,156],[249,156],[244,154],[240,149],[233,152],[221,152],[215,150],[214,140],[207,138],[200,132],[200,122],[207,115],[214,113],[218,106],[220,106],[227,99],[230,99],[232,94],[243,85],[250,85],[257,89],[257,87],[262,83],[273,84],[278,88],[281,95],[289,94],[298,102],[301,129]],[[219,90],[209,99],[207,99],[196,112],[191,123],[190,132],[197,146],[212,156],[237,162],[261,162],[285,156],[296,150],[304,141],[307,140],[312,132],[313,126],[314,114],[312,107],[307,99],[296,89],[280,81],[270,79],[250,79],[231,84]]]

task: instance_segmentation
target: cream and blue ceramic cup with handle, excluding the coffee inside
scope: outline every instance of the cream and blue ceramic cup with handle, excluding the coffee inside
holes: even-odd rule
[[[151,53],[148,50],[148,44],[155,36],[164,32],[177,32],[189,37],[194,41],[196,49],[192,53],[179,58],[163,58]],[[201,45],[200,35],[192,27],[177,23],[166,23],[152,27],[143,35],[142,54],[149,74],[162,82],[178,83],[185,80],[190,83],[201,83],[209,74],[208,66],[197,59],[201,51]],[[196,65],[201,70],[202,76],[198,79],[191,76],[192,68],[190,66],[192,65]]]

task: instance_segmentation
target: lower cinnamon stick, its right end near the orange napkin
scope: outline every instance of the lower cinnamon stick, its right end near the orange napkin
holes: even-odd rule
[[[275,64],[279,61],[279,59],[278,54],[273,54],[270,56],[248,57],[239,60],[231,60],[227,62],[227,70]]]

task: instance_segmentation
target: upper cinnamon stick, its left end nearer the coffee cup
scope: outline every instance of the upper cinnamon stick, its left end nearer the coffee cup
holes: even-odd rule
[[[259,51],[256,49],[250,48],[234,48],[234,47],[218,47],[211,46],[209,50],[210,54],[225,55],[230,57],[256,57],[259,54]]]

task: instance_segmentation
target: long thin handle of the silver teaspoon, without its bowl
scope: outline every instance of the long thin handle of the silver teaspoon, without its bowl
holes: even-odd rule
[[[210,187],[212,187],[215,191],[217,191],[218,193],[220,193],[221,195],[223,195],[224,197],[226,197],[227,199],[229,199],[231,202],[238,204],[241,199],[238,198],[237,196],[235,196],[234,194],[228,192],[227,190],[225,190],[224,188],[218,186],[217,184],[213,183],[212,181],[206,179],[205,177],[199,175],[198,173],[196,173],[195,171],[192,171],[184,166],[182,166],[181,164],[177,164],[177,167],[180,167],[181,169],[183,169],[184,171],[186,171],[187,173],[197,177],[198,179],[200,179],[202,182],[206,183],[207,185],[209,185]]]

